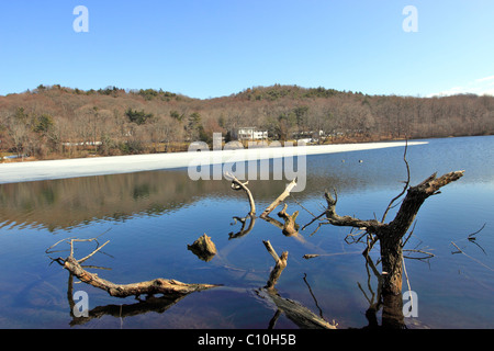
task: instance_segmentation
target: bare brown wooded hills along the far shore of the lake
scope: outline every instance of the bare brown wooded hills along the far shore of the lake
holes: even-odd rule
[[[280,84],[206,100],[59,84],[0,97],[0,152],[36,159],[187,150],[194,140],[212,143],[213,133],[235,139],[246,126],[268,131],[273,140],[318,144],[492,135],[494,97],[369,95]]]

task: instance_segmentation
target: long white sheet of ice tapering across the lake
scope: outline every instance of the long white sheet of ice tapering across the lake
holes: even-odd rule
[[[408,146],[424,144],[427,144],[427,141],[408,141]],[[237,150],[206,150],[202,151],[201,156],[198,155],[199,152],[172,152],[0,163],[0,184],[179,169],[189,167],[191,162],[198,165],[198,160],[199,165],[206,166],[290,156],[296,157],[403,147],[405,145],[406,141],[378,141],[296,147],[262,147]]]

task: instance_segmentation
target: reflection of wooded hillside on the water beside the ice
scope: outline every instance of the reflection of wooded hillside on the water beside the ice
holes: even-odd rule
[[[412,184],[434,171],[452,169],[467,170],[463,184],[494,179],[494,169],[485,165],[485,159],[492,158],[493,139],[438,139],[409,147]],[[433,149],[439,150],[440,163]],[[301,201],[319,199],[325,189],[333,188],[341,194],[400,189],[406,176],[402,157],[403,148],[308,156],[306,188],[294,196]],[[272,174],[269,179],[250,180],[256,201],[269,201],[287,183],[272,180]],[[101,219],[122,222],[135,215],[159,215],[213,196],[236,195],[226,180],[192,181],[184,169],[0,184],[0,228],[25,225],[56,230]]]

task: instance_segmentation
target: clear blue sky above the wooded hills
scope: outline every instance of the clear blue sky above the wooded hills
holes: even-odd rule
[[[76,33],[85,5],[89,32]],[[417,32],[405,32],[406,5]],[[38,84],[192,98],[297,84],[369,94],[494,94],[492,0],[0,2],[0,94]]]

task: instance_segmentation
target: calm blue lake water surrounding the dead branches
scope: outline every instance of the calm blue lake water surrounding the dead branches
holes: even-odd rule
[[[494,137],[428,141],[408,148],[412,184],[434,172],[465,170],[465,176],[429,197],[418,213],[405,249],[427,250],[435,257],[405,260],[411,288],[418,296],[418,317],[405,318],[405,324],[409,328],[493,328]],[[307,186],[288,200],[288,212],[300,211],[297,223],[303,226],[312,218],[307,211],[323,211],[325,189],[336,188],[340,215],[380,218],[403,186],[402,158],[403,148],[311,156]],[[249,183],[258,213],[282,192],[284,183]],[[337,321],[340,328],[369,325],[366,310],[375,303],[378,280],[360,254],[363,247],[345,241],[348,228],[325,225],[311,235],[316,229],[312,225],[297,237],[287,237],[257,218],[249,233],[238,235],[242,225],[234,217],[244,217],[248,211],[245,195],[232,191],[227,181],[193,182],[187,170],[2,184],[0,328],[268,328],[277,308],[258,294],[273,265],[262,240],[270,240],[278,253],[289,251],[288,267],[277,284],[282,297]],[[482,227],[475,240],[468,240]],[[209,262],[187,249],[204,233],[218,251]],[[139,305],[132,297],[114,298],[91,286],[71,284],[67,271],[50,264],[45,250],[58,240],[101,234],[100,241],[110,244],[87,263],[105,268],[89,270],[106,280],[132,283],[169,278],[222,286],[172,303],[159,299]],[[453,253],[451,241],[464,254]],[[76,257],[91,250],[91,245],[81,244]],[[305,260],[306,253],[321,256]],[[377,247],[374,260],[378,253]],[[406,281],[403,288],[407,290]],[[70,292],[80,290],[88,293],[91,310],[83,320],[72,318],[69,305]],[[297,326],[281,314],[274,328]]]

